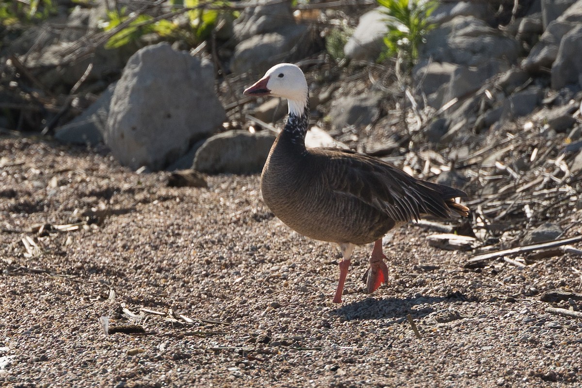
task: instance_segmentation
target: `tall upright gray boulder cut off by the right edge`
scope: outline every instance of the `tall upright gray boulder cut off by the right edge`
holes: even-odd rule
[[[564,35],[552,65],[552,88],[569,84],[582,86],[582,24]]]

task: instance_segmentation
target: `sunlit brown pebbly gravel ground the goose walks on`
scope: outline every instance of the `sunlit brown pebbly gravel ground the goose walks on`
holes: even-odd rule
[[[385,246],[389,286],[364,294],[359,247],[334,305],[338,249],[274,218],[258,176],[166,177],[100,149],[0,140],[0,386],[580,384],[582,321],[545,312],[576,301],[541,301],[580,291],[576,257],[466,270],[469,253],[407,225]],[[123,307],[146,333],[104,333],[102,316],[136,323]]]

